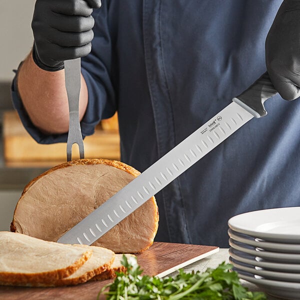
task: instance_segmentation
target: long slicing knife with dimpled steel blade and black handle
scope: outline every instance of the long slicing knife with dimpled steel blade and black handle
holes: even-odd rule
[[[265,72],[229,105],[65,232],[61,243],[91,244],[253,117],[277,91]]]

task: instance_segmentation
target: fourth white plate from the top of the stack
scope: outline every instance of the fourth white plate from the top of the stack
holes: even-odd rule
[[[237,251],[233,248],[229,248],[229,255],[238,261],[258,266],[266,270],[300,273],[300,264],[262,261],[258,257],[256,258],[253,255]]]

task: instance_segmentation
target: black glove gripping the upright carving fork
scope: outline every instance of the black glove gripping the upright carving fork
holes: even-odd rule
[[[100,0],[36,0],[31,23],[34,62],[56,71],[64,60],[87,55],[93,38],[92,8],[100,6]]]

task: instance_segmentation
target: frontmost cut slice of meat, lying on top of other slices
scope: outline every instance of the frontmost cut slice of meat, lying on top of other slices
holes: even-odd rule
[[[92,250],[0,231],[0,284],[34,286],[73,274]]]

